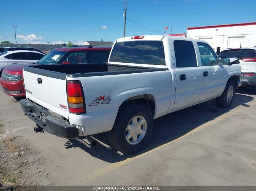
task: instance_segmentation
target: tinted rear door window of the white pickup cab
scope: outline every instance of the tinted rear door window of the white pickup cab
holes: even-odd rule
[[[173,44],[177,68],[197,66],[194,44],[191,41],[175,40]]]

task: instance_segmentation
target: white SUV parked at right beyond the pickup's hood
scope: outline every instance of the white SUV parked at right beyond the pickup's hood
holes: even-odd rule
[[[219,57],[239,59],[239,65],[242,67],[242,85],[251,86],[256,91],[256,47],[223,50]]]

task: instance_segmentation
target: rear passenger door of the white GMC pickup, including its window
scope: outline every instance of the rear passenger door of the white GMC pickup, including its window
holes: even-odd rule
[[[176,74],[173,110],[197,103],[201,96],[202,70],[193,40],[174,40],[172,46]]]

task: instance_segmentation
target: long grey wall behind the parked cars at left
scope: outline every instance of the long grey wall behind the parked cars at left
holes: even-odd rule
[[[55,44],[14,44],[14,43],[8,43],[8,44],[0,43],[0,46],[7,46],[7,47],[15,47],[15,46],[25,47],[25,46],[29,46],[29,47],[36,48],[36,49],[38,49],[42,52],[48,52],[48,51],[51,51],[55,48],[64,47],[64,45],[55,45]]]

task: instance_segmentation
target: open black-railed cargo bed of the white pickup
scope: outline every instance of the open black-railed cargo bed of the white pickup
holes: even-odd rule
[[[66,77],[78,78],[89,76],[155,72],[164,70],[168,70],[168,68],[138,67],[108,63],[77,65],[35,65],[24,67],[24,71],[61,80],[65,80]]]

